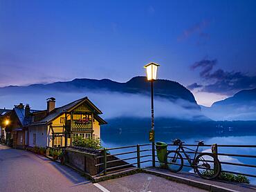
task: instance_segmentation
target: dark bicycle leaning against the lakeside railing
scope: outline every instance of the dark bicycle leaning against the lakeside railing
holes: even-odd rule
[[[181,142],[179,139],[172,140],[172,142],[177,148],[175,151],[167,151],[165,157],[165,166],[167,166],[170,171],[174,173],[181,171],[183,168],[183,157],[181,153],[183,153],[185,155],[184,159],[188,160],[190,166],[194,169],[194,173],[197,173],[200,177],[212,180],[219,176],[221,173],[221,163],[215,155],[212,153],[199,153],[199,155],[197,155],[199,146],[204,145],[203,141],[196,141],[198,142],[196,150],[183,146],[182,144],[184,142]],[[185,148],[194,151],[193,159],[190,159],[190,155],[184,150]]]

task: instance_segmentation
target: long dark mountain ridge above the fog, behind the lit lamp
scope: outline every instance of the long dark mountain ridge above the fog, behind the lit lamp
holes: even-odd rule
[[[133,77],[126,83],[119,83],[109,79],[73,79],[73,81],[59,81],[52,84],[32,84],[30,86],[7,86],[0,88],[0,95],[7,93],[35,93],[35,91],[54,90],[60,92],[81,92],[89,90],[108,90],[119,93],[140,93],[149,95],[150,84],[146,77]],[[199,108],[194,99],[194,95],[181,84],[158,79],[154,82],[154,94],[169,100],[184,99]]]

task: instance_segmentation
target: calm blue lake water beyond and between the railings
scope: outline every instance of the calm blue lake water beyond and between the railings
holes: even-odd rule
[[[203,140],[205,144],[238,144],[238,145],[255,145],[256,144],[256,128],[247,128],[239,131],[234,131],[233,128],[216,129],[199,129],[196,128],[156,128],[156,142],[167,142],[171,144],[171,140],[179,138],[186,144],[196,144],[195,140]],[[110,126],[102,128],[102,145],[104,147],[116,147],[116,146],[129,146],[134,144],[149,144],[148,136],[149,129],[146,128],[113,128]],[[142,149],[150,148],[150,146],[144,146]],[[170,148],[168,148],[170,149]],[[124,151],[136,151],[136,148],[127,148],[122,150],[110,151],[111,154],[122,153]],[[210,147],[201,147],[199,151],[210,151]],[[240,154],[240,155],[256,155],[256,148],[230,148],[219,147],[219,153]],[[150,152],[145,152],[141,155],[148,155]],[[122,158],[131,157],[134,154],[122,155]],[[191,155],[193,157],[193,155]],[[151,157],[145,157],[143,160],[150,160]],[[253,164],[256,165],[255,158],[250,157],[231,157],[231,156],[219,156],[219,160],[222,162],[234,162],[239,164]],[[127,162],[134,163],[136,160],[128,160]],[[148,162],[143,166],[150,166],[152,163]],[[244,167],[244,166],[231,166],[222,164],[223,170],[235,171],[241,173],[248,173],[256,175],[256,168]],[[183,167],[183,171],[190,171],[190,168]],[[249,177],[250,182],[256,184],[256,178]]]

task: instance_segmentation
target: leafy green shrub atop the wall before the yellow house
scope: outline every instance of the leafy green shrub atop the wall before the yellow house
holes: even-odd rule
[[[87,148],[93,149],[100,149],[102,148],[100,144],[100,138],[93,139],[93,138],[82,138],[81,136],[73,138],[73,146],[82,146]]]

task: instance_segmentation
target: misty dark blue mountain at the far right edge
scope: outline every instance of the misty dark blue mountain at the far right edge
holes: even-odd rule
[[[232,97],[214,102],[210,108],[201,107],[201,110],[217,120],[255,120],[256,88],[241,90]]]

